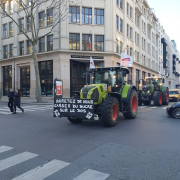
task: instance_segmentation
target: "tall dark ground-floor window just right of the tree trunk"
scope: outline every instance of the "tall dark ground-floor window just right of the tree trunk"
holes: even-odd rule
[[[53,61],[39,62],[39,75],[42,96],[52,96],[53,90]]]

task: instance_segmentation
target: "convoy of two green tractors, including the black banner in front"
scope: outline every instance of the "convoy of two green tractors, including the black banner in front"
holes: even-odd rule
[[[137,90],[139,87],[126,83],[127,74],[129,70],[125,67],[88,70],[86,85],[76,96],[65,99],[55,94],[54,117],[67,117],[74,124],[82,120],[101,120],[104,126],[113,127],[118,122],[119,112],[126,119],[134,119],[138,105],[150,105],[152,100],[155,106],[168,105],[169,89],[162,85],[164,79],[145,78],[142,90]]]

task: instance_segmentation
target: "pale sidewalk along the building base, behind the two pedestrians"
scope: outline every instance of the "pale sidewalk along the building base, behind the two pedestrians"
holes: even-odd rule
[[[43,102],[42,103],[37,103],[37,99],[32,99],[32,98],[27,98],[27,97],[22,97],[21,98],[21,103],[22,104],[36,104],[36,105],[42,105],[42,104],[46,104],[46,105],[53,105],[54,104],[54,100],[53,98],[42,98]],[[8,102],[8,97],[6,96],[2,96],[0,99],[0,102]]]

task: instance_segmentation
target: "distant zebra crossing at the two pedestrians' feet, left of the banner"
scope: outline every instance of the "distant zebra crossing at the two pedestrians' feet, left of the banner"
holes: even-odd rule
[[[35,112],[35,111],[46,111],[53,110],[53,105],[32,105],[32,106],[22,106],[25,112]],[[16,108],[16,112],[22,112],[20,109]],[[0,107],[0,114],[10,115],[9,107]]]

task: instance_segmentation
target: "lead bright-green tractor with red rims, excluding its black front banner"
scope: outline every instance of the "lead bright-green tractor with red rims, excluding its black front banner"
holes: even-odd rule
[[[129,74],[127,68],[108,67],[94,68],[90,71],[91,84],[85,85],[76,99],[93,99],[94,119],[101,119],[106,127],[117,124],[119,112],[126,119],[134,119],[138,110],[138,95],[135,86],[125,83]],[[86,76],[87,77],[87,76]],[[72,123],[82,122],[82,118],[68,117]]]

